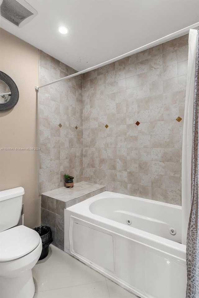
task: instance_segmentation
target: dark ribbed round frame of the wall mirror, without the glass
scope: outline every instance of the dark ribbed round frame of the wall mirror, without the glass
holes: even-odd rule
[[[19,90],[13,79],[11,79],[11,77],[9,77],[9,75],[5,74],[3,71],[0,71],[0,79],[3,80],[11,90],[10,100],[5,103],[0,103],[0,111],[7,111],[16,106],[19,100]]]

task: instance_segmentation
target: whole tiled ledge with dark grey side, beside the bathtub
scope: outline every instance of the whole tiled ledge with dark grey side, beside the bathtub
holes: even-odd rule
[[[61,187],[41,195],[41,225],[51,228],[55,246],[64,248],[64,209],[105,190],[104,185],[82,181],[73,188]]]

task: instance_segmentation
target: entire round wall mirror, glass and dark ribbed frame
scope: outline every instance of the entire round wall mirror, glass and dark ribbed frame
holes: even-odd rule
[[[19,90],[9,75],[0,71],[0,111],[12,109],[18,102]]]

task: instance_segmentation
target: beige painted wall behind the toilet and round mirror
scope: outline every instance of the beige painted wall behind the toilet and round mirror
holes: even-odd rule
[[[2,29],[0,39],[0,69],[15,81],[20,95],[13,109],[0,112],[0,147],[39,147],[34,88],[39,84],[39,51]],[[39,151],[0,150],[0,190],[24,187],[24,223],[30,228],[40,225],[38,173]]]

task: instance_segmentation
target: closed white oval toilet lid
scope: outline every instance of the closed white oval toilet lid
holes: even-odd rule
[[[40,236],[25,226],[17,226],[0,233],[0,262],[16,260],[39,245]]]

